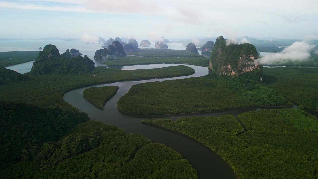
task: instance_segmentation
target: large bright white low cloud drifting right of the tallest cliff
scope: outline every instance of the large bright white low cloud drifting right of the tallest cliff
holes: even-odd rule
[[[315,45],[308,44],[306,41],[294,42],[291,46],[286,47],[283,51],[264,56],[258,60],[260,64],[283,64],[286,62],[307,61],[310,52]]]

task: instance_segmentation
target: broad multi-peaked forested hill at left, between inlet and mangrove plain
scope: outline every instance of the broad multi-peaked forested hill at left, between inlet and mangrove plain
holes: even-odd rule
[[[67,51],[66,51],[67,52]],[[90,73],[95,68],[95,63],[87,57],[76,56],[70,58],[66,53],[60,55],[54,45],[46,45],[43,51],[38,53],[37,59],[33,62],[32,75],[40,74],[81,74]]]

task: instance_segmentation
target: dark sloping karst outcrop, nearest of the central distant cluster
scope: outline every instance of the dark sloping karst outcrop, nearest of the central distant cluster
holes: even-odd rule
[[[119,41],[114,41],[108,48],[100,49],[95,52],[95,60],[104,60],[108,57],[124,57],[126,56],[125,50]]]

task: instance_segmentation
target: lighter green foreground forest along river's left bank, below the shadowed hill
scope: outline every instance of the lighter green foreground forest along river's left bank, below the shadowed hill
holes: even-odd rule
[[[0,176],[11,179],[198,178],[190,163],[171,148],[97,121],[79,124],[64,132],[59,140],[25,150],[23,161],[0,171]]]

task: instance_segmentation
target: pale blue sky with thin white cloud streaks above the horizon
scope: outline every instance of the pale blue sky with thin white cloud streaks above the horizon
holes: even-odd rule
[[[318,36],[317,0],[0,0],[0,38]],[[154,40],[155,41],[155,40]]]

